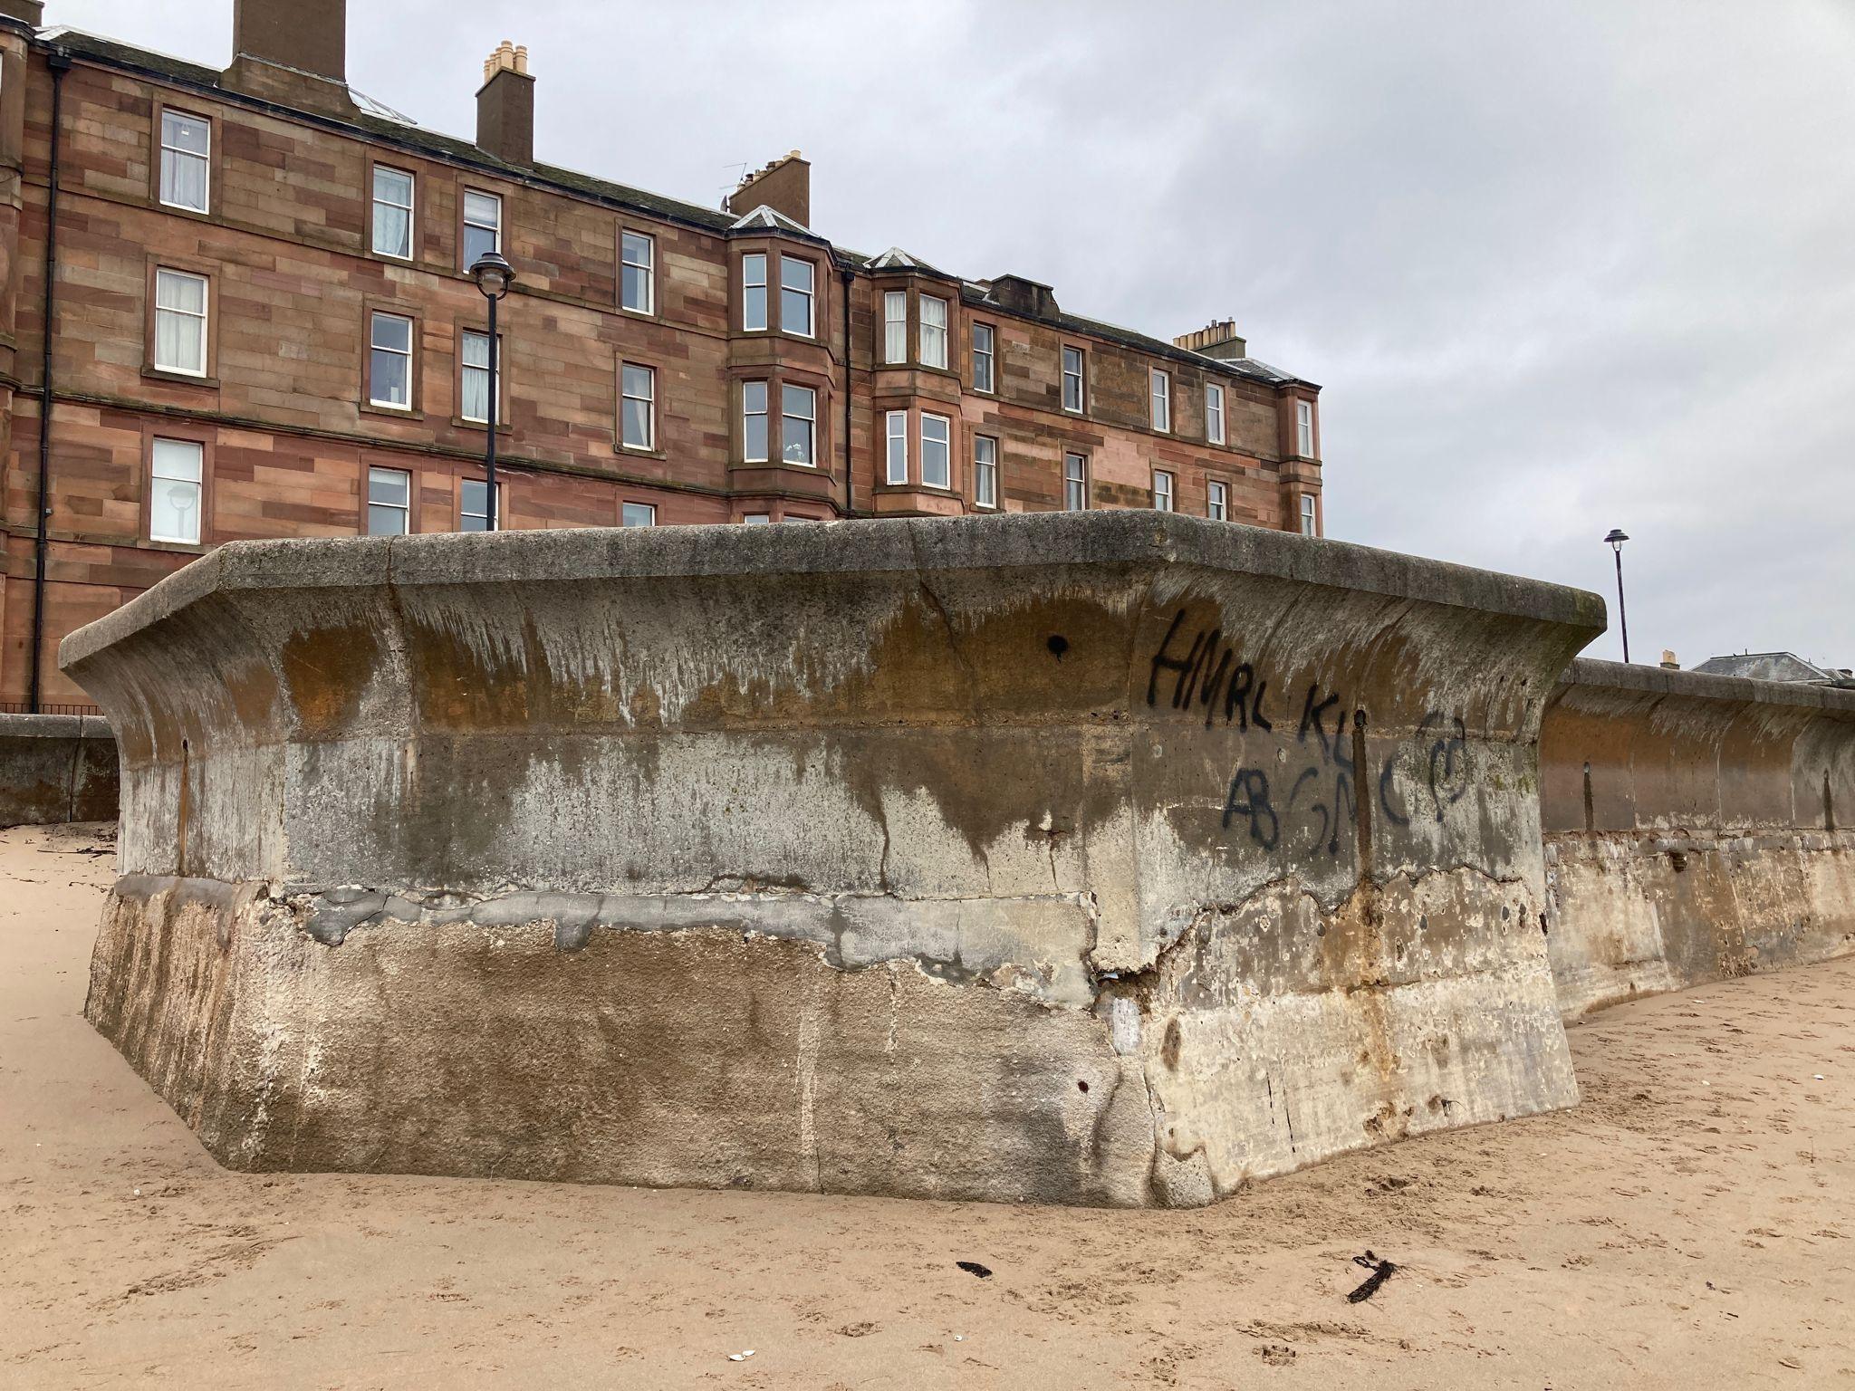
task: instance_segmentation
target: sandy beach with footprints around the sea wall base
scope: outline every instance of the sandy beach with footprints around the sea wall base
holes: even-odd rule
[[[0,833],[0,1385],[1855,1387],[1855,961],[1200,1211],[234,1174],[82,1018],[98,831]]]

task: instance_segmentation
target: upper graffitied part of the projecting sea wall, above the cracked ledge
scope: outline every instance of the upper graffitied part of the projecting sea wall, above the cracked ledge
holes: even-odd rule
[[[124,874],[1089,896],[1540,883],[1590,593],[1148,512],[234,543],[65,640]],[[1360,762],[1363,760],[1363,768]]]

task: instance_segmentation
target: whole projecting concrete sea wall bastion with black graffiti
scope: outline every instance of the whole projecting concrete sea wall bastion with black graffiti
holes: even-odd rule
[[[1577,1098],[1593,595],[1141,512],[239,543],[72,634],[224,1163],[1187,1204]]]

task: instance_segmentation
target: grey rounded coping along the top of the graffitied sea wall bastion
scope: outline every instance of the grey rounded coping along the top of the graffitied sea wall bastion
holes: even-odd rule
[[[736,573],[1011,571],[1104,564],[1198,566],[1532,618],[1592,634],[1605,627],[1599,595],[1543,581],[1176,512],[1041,512],[816,527],[588,527],[230,542],[67,636],[59,666],[70,670],[213,592],[232,590]]]

